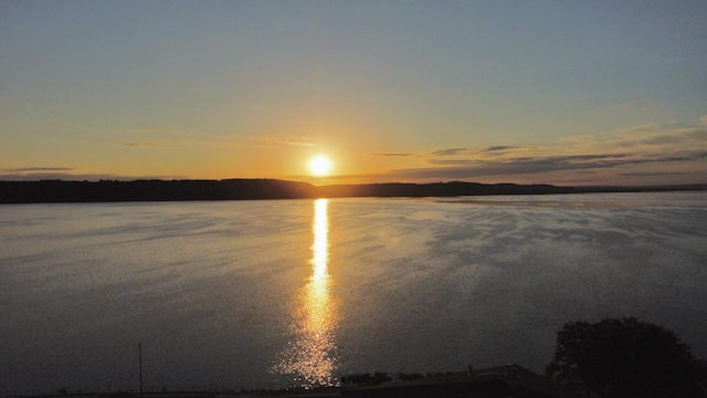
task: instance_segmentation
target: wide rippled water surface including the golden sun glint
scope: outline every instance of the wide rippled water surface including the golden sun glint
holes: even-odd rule
[[[517,363],[634,315],[707,357],[707,192],[0,207],[0,395]]]

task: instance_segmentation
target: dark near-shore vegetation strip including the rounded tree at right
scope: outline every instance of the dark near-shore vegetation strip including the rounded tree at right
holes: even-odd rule
[[[542,377],[518,365],[464,371],[350,374],[339,387],[71,394],[44,398],[668,398],[707,397],[707,363],[673,332],[634,317],[569,322],[557,334],[553,360]]]

